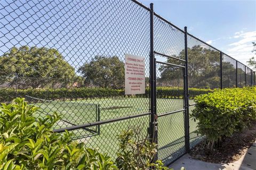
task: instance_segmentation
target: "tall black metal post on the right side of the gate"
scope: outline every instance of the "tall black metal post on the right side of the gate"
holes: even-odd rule
[[[189,93],[188,93],[188,32],[185,30],[185,148],[186,152],[190,151],[189,145]]]

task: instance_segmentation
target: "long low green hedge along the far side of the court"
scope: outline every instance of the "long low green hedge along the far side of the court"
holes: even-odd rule
[[[190,98],[197,95],[212,92],[211,89],[189,89]],[[145,94],[142,95],[124,95],[124,90],[108,89],[108,88],[59,88],[59,89],[0,89],[0,101],[11,101],[15,97],[32,96],[36,98],[49,100],[74,100],[88,98],[113,98],[113,97],[149,97],[150,90],[146,88]],[[158,98],[182,98],[183,89],[177,87],[157,87]]]

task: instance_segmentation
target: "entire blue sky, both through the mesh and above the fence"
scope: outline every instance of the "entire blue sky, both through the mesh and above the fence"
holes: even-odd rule
[[[146,6],[153,2],[157,14],[182,29],[187,26],[189,33],[244,64],[253,56],[256,0],[139,1]],[[13,46],[55,48],[76,70],[95,55],[118,56],[122,61],[124,54],[148,59],[149,12],[125,2],[1,1],[0,56]],[[179,41],[182,33],[157,22],[154,49],[179,54],[184,47]]]

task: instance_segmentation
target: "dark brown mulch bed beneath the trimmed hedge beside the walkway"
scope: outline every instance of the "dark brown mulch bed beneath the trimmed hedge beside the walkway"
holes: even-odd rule
[[[255,140],[256,123],[252,128],[246,129],[241,133],[235,133],[231,138],[226,138],[218,149],[212,151],[205,149],[205,140],[203,140],[191,149],[190,156],[204,162],[231,163],[243,156]]]

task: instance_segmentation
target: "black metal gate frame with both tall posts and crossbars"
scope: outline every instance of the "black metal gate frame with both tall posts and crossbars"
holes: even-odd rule
[[[183,119],[184,119],[184,128],[185,128],[185,154],[189,153],[190,151],[190,144],[189,144],[189,91],[188,91],[188,44],[187,44],[187,27],[185,27],[185,60],[180,58],[176,58],[173,56],[165,55],[162,53],[158,53],[154,51],[154,4],[150,3],[150,59],[149,59],[149,72],[150,72],[150,123],[149,123],[149,137],[150,141],[157,144],[158,136],[157,136],[157,105],[156,105],[156,63],[161,63],[165,65],[173,65],[178,66],[183,69],[183,110],[181,111],[174,111],[170,113],[163,114],[169,115],[176,112],[183,111]],[[166,62],[158,62],[156,61],[155,54],[162,55],[165,57],[170,57],[175,60],[180,60],[185,64],[183,66],[166,63]],[[155,155],[154,160],[157,160],[158,155]],[[153,161],[154,161],[153,160]]]

